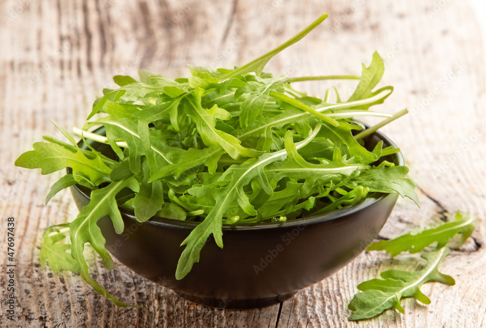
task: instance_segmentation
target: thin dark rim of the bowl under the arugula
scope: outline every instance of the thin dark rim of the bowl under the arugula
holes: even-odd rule
[[[361,123],[361,122],[360,122]],[[388,146],[393,146],[394,148],[398,148],[397,145],[386,135],[384,135],[381,131],[375,131],[373,132],[370,136],[378,136],[380,140],[383,141],[383,143],[387,144]],[[83,140],[80,140],[78,142],[83,143]],[[396,166],[403,166],[405,165],[405,161],[403,158],[403,155],[401,152],[393,154],[396,157],[397,163],[395,164]],[[67,168],[68,173],[72,173],[72,170],[70,168]],[[74,188],[76,192],[80,195],[82,195],[83,198],[85,198],[87,201],[89,201],[90,197],[82,190],[79,188],[80,186],[78,184],[72,185],[71,188]],[[302,225],[307,226],[309,224],[316,224],[316,223],[321,223],[321,222],[326,222],[326,221],[331,221],[331,220],[336,220],[341,217],[349,216],[354,213],[360,212],[364,210],[367,207],[371,207],[377,202],[380,202],[384,200],[387,197],[395,197],[398,196],[396,192],[393,193],[380,193],[380,192],[372,192],[370,193],[367,197],[365,197],[361,202],[347,206],[344,208],[340,208],[334,211],[331,211],[329,213],[324,213],[324,214],[318,214],[318,215],[313,215],[313,216],[308,216],[304,218],[299,218],[296,220],[291,220],[291,221],[285,221],[285,222],[276,222],[276,223],[250,223],[250,224],[244,224],[244,223],[236,223],[236,224],[223,224],[223,231],[233,231],[233,230],[259,230],[259,229],[275,229],[279,227],[285,227],[285,228],[291,228],[291,227],[301,227]],[[119,207],[120,208],[120,207]],[[137,224],[149,224],[149,225],[154,225],[154,226],[165,226],[165,227],[177,227],[177,228],[182,228],[182,229],[193,229],[195,228],[199,223],[198,222],[192,222],[192,221],[182,221],[182,220],[174,220],[174,219],[169,219],[169,218],[163,218],[163,217],[157,217],[156,221],[155,220],[147,220],[144,222],[139,222],[136,218],[135,215],[133,214],[133,211],[130,211],[125,208],[120,208],[120,212],[122,216],[125,216],[132,221],[136,222]]]

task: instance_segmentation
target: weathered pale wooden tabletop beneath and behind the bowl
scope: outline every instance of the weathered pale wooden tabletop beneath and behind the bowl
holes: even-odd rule
[[[381,109],[411,111],[382,131],[405,155],[421,208],[399,199],[381,236],[433,226],[457,209],[475,215],[473,238],[441,265],[455,286],[426,284],[422,291],[432,304],[407,299],[404,315],[387,311],[351,323],[347,304],[358,283],[389,268],[382,252],[360,255],[280,305],[250,311],[194,305],[120,263],[107,272],[91,254],[98,282],[146,307],[116,308],[81,276],[40,267],[43,229],[71,221],[77,211],[67,191],[44,206],[61,173],[40,176],[13,162],[42,135],[59,137],[50,119],[82,125],[101,89],[113,86],[113,75],[136,76],[145,68],[175,78],[188,75],[186,63],[244,64],[323,12],[330,14],[327,21],[266,70],[360,74],[375,50],[382,54],[382,86],[395,91]],[[0,327],[486,327],[485,56],[466,2],[3,0],[0,13]],[[346,95],[351,83],[337,85]],[[329,84],[301,87],[323,96]],[[14,322],[6,319],[7,217],[16,220]]]

